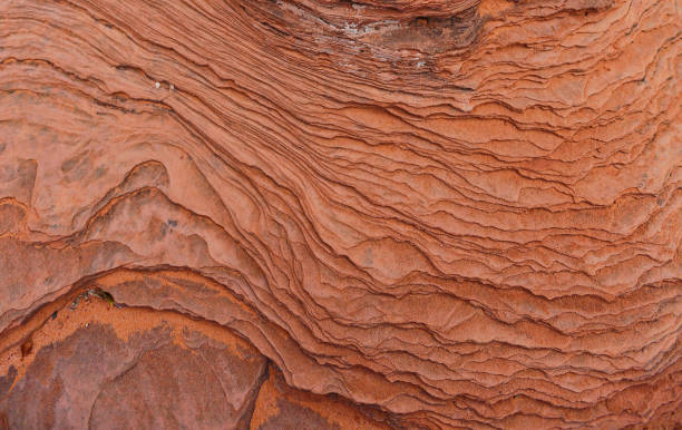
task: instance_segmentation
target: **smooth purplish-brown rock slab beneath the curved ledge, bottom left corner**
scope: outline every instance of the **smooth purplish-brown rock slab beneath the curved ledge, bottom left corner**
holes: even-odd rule
[[[109,312],[104,304],[96,310]],[[97,320],[35,352],[0,399],[11,429],[249,428],[266,360],[244,341],[211,339],[163,319],[126,339],[115,322]]]

